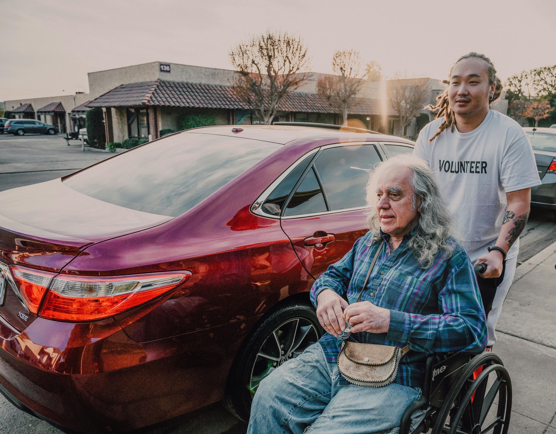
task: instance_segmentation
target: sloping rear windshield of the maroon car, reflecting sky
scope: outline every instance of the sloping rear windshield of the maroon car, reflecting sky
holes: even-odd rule
[[[241,137],[182,133],[103,161],[63,182],[111,204],[176,217],[280,146]]]

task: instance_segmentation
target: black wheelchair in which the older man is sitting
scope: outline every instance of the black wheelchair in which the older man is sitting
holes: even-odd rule
[[[476,273],[486,268],[480,265],[475,267]],[[421,392],[402,415],[400,434],[426,433],[430,428],[431,434],[508,432],[512,381],[494,353],[431,354],[426,359]],[[423,410],[424,419],[411,430],[411,416]]]

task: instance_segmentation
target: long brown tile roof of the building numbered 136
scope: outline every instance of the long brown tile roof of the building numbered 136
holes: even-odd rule
[[[348,110],[351,115],[379,115],[380,101],[355,98],[356,104]],[[146,81],[129,83],[112,89],[88,107],[166,106],[195,108],[249,109],[236,96],[230,86],[202,85],[176,81]],[[292,92],[279,104],[281,111],[337,113],[325,98],[316,93]],[[389,114],[393,112],[389,110]]]

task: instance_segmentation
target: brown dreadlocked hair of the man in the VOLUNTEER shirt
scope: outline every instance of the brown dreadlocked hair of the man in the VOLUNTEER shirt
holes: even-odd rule
[[[500,78],[497,77],[496,69],[494,68],[494,65],[493,65],[492,61],[488,57],[486,57],[485,55],[482,55],[480,53],[475,53],[474,51],[471,51],[470,53],[467,53],[466,55],[461,56],[454,63],[454,66],[459,61],[464,60],[464,59],[469,58],[469,57],[476,57],[476,58],[479,58],[479,59],[483,59],[486,63],[488,63],[488,68],[487,68],[486,71],[488,73],[489,86],[496,85],[496,87],[494,89],[494,94],[493,94],[492,98],[490,98],[490,102],[489,102],[489,105],[490,105],[494,101],[496,101],[498,99],[498,97],[500,96],[500,93],[502,93],[502,81],[500,81]],[[450,68],[450,75],[451,75],[451,71],[453,70],[454,66],[452,66]],[[450,127],[451,132],[454,132],[455,115],[454,115],[454,111],[451,109],[450,103],[448,101],[448,85],[450,84],[450,81],[449,80],[442,80],[442,83],[444,85],[446,85],[446,87],[444,88],[444,92],[440,93],[436,97],[436,104],[435,105],[429,104],[428,106],[425,107],[430,111],[437,111],[438,110],[438,112],[435,115],[436,119],[438,119],[439,117],[444,117],[444,120],[442,121],[442,123],[438,127],[438,131],[436,131],[435,135],[432,136],[429,139],[429,142],[433,141],[436,137],[438,137],[438,135],[441,132],[443,132],[448,127]]]

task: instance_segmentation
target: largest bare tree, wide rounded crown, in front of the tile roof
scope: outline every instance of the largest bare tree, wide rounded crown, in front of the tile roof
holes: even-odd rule
[[[305,43],[286,32],[266,31],[240,42],[229,55],[237,70],[232,88],[266,125],[279,112],[282,98],[310,77],[300,72],[309,66]]]

